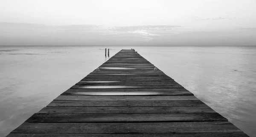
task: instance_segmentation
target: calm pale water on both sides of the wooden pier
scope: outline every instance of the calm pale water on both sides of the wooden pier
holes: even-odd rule
[[[0,137],[96,69],[105,47],[0,47]],[[256,137],[256,47],[136,49],[251,137]]]

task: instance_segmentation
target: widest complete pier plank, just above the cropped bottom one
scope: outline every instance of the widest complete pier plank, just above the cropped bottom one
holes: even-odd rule
[[[54,128],[53,128],[54,127]],[[198,133],[238,132],[230,122],[23,123],[12,133]]]

